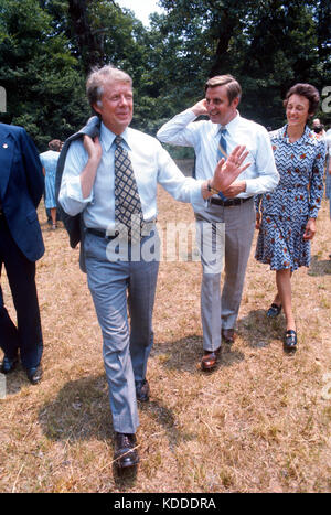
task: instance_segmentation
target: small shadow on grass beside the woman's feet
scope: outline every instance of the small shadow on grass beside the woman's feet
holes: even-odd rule
[[[238,321],[238,334],[244,342],[254,348],[264,348],[275,340],[282,340],[284,333],[285,318],[282,312],[279,316],[269,319],[266,315],[266,310],[253,310]]]

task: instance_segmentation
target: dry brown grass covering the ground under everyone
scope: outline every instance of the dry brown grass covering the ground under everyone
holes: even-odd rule
[[[193,221],[159,192],[159,222]],[[324,201],[309,271],[293,277],[299,350],[285,355],[284,318],[268,321],[274,272],[254,260],[235,345],[212,374],[202,350],[199,262],[161,262],[156,344],[140,407],[138,474],[113,466],[102,337],[78,250],[40,210],[45,256],[38,264],[44,378],[19,368],[0,400],[1,492],[330,492],[330,221]],[[13,314],[6,278],[7,304]],[[330,396],[331,397],[331,396]]]

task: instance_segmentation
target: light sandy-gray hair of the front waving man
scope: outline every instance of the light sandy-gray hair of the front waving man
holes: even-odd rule
[[[110,64],[107,64],[102,68],[92,68],[86,81],[86,95],[92,107],[94,104],[100,103],[104,94],[104,85],[111,82],[127,83],[132,87],[130,75],[115,66],[111,66]]]

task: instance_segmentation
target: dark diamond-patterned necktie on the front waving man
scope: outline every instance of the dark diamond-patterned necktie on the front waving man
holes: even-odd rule
[[[129,240],[137,243],[143,223],[142,208],[132,163],[122,141],[120,136],[115,138],[115,225],[117,230],[118,223],[128,227]]]

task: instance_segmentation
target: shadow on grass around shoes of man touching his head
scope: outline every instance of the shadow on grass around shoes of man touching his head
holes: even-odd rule
[[[200,362],[203,355],[202,336],[192,334],[174,342],[162,342],[154,345],[151,355],[160,364],[171,371],[201,372]],[[215,371],[224,366],[233,366],[244,360],[244,354],[229,345],[222,344],[222,353]]]

